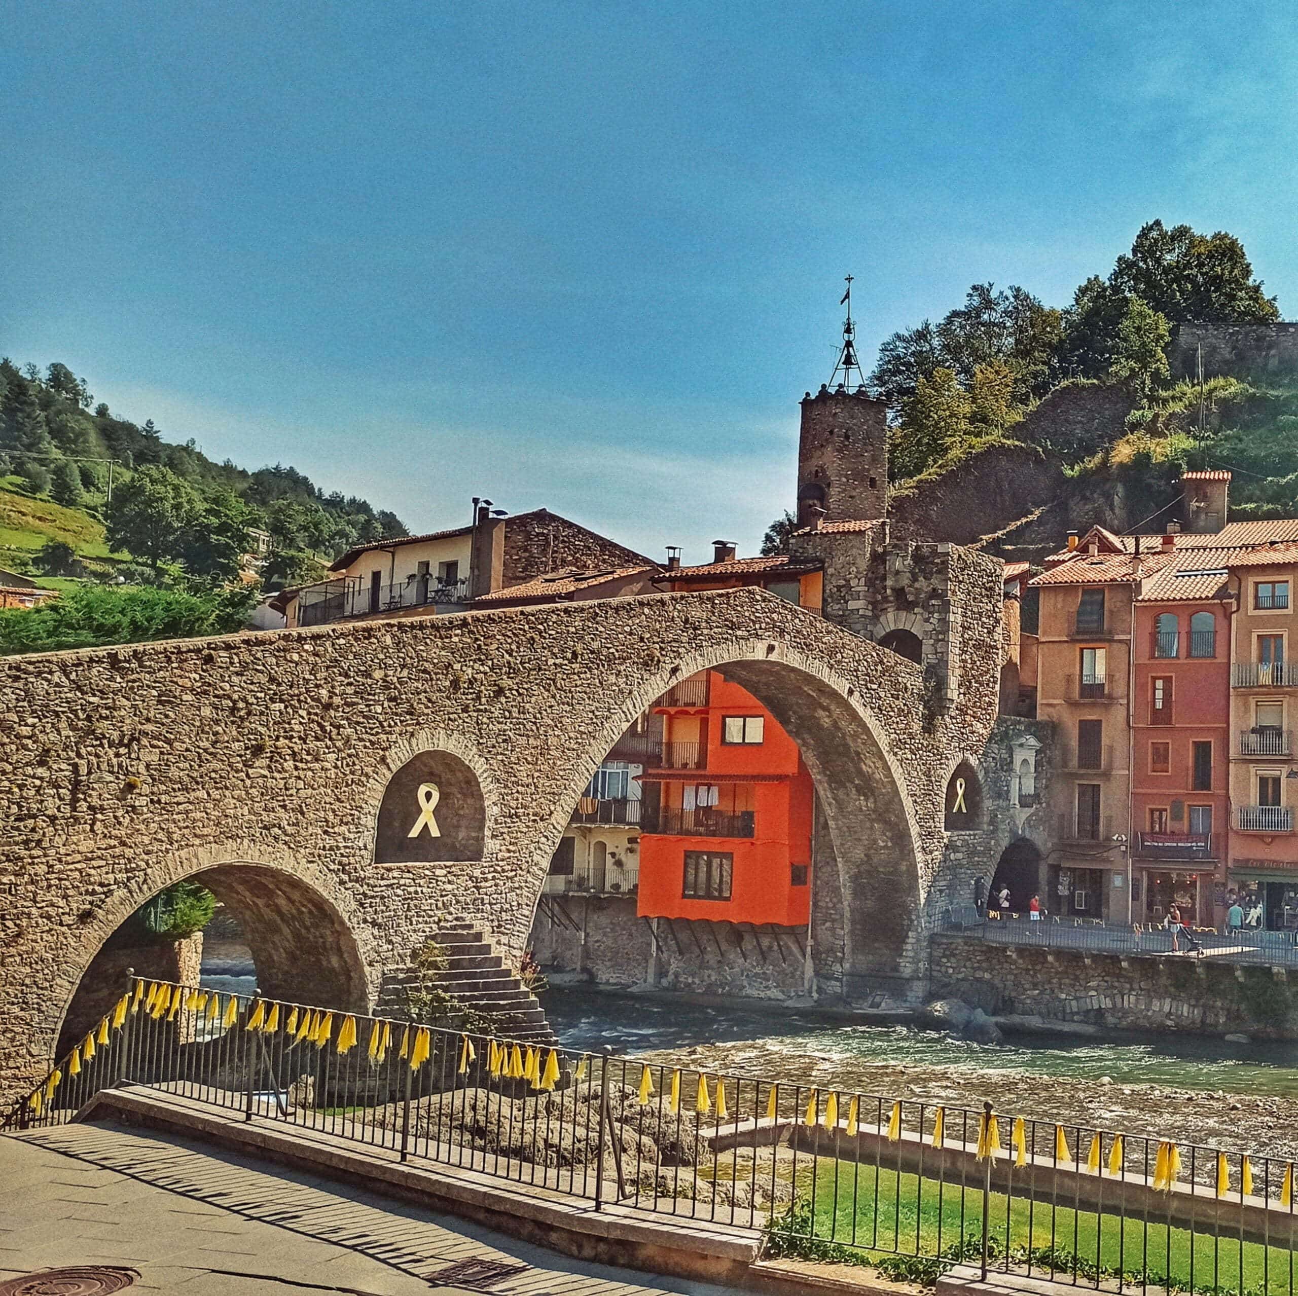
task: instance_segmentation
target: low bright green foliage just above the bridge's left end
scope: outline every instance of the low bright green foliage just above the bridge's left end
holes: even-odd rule
[[[251,590],[190,594],[139,585],[79,586],[39,607],[0,611],[0,656],[148,640],[228,634],[256,603]]]

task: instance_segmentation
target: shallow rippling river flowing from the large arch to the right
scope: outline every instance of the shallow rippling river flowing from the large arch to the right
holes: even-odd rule
[[[888,1098],[1298,1157],[1298,1042],[1189,1033],[1018,1035],[980,1046],[910,1026],[556,987],[565,1044]]]

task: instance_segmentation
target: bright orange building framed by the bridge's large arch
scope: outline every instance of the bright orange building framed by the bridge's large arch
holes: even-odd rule
[[[797,745],[718,671],[653,710],[663,736],[641,774],[639,915],[805,926],[814,789]]]

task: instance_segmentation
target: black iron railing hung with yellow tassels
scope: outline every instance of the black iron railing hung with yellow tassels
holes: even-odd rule
[[[768,1254],[898,1279],[1294,1292],[1286,1160],[170,982],[123,1003],[96,1033],[106,1043],[88,1061],[78,1043],[6,1129],[60,1123],[127,1085],[593,1210],[762,1229]]]

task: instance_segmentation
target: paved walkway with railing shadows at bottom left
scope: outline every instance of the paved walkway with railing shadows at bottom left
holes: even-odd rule
[[[722,1296],[588,1265],[344,1184],[170,1135],[65,1125],[0,1136],[0,1280],[136,1269],[184,1296]]]

